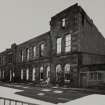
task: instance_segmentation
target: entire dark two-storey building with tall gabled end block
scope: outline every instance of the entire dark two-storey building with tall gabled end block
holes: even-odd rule
[[[0,80],[69,87],[105,82],[105,39],[78,4],[51,18],[50,31],[0,53]]]

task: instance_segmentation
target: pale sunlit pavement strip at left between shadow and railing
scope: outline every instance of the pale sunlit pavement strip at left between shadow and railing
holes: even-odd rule
[[[17,101],[28,102],[28,103],[32,103],[35,105],[53,105],[52,103],[49,103],[49,102],[44,102],[44,101],[40,101],[37,99],[33,99],[33,98],[15,94],[16,92],[21,92],[21,91],[23,91],[23,90],[0,86],[0,97],[5,97],[7,99],[13,99],[13,100],[17,100]],[[10,104],[7,104],[7,105],[10,105]]]

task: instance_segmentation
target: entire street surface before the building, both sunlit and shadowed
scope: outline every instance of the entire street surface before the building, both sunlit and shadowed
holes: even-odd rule
[[[34,87],[31,84],[0,83],[0,97],[15,98],[37,105],[105,105],[105,95],[91,89]],[[104,93],[104,92],[103,92]],[[96,100],[97,99],[97,100]],[[94,102],[104,102],[97,104]]]

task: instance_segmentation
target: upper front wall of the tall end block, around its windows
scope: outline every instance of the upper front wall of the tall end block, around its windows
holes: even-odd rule
[[[62,19],[65,18],[65,27],[62,27]],[[56,40],[58,37],[62,38],[62,54],[65,53],[65,36],[71,34],[71,50],[72,52],[78,51],[78,33],[79,33],[79,20],[78,20],[78,7],[73,6],[70,9],[55,15],[51,18],[51,41],[52,41],[52,55],[56,55]]]

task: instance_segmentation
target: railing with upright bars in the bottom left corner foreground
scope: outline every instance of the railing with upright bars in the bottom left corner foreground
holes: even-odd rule
[[[37,105],[37,104],[0,97],[0,105]]]

